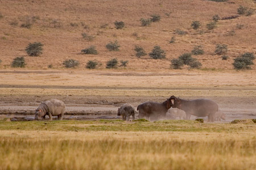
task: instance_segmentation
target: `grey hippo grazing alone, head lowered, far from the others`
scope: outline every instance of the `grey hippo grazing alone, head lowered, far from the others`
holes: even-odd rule
[[[52,116],[58,116],[58,120],[63,119],[65,112],[65,104],[63,101],[57,99],[51,99],[44,101],[39,105],[35,111],[35,120],[40,120],[42,117],[46,119],[46,115],[49,116],[49,120],[52,121]]]

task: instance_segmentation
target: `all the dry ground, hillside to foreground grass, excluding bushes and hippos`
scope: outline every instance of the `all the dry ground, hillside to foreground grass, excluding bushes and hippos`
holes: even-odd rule
[[[238,14],[240,6],[251,14]],[[0,170],[256,169],[256,67],[232,65],[243,53],[255,56],[255,8],[252,0],[0,1]],[[153,14],[160,21],[142,27]],[[220,20],[209,30],[213,15]],[[125,27],[116,29],[116,20]],[[106,49],[115,40],[119,50]],[[38,57],[26,53],[31,42],[43,44]],[[228,45],[228,59],[214,52],[217,44]],[[97,54],[81,53],[92,45]],[[147,55],[138,58],[135,45]],[[155,45],[166,58],[148,55]],[[200,69],[170,66],[198,45],[204,54],[192,57]],[[11,67],[15,57],[24,57],[24,68]],[[112,58],[127,66],[106,69]],[[80,65],[67,69],[65,59]],[[96,69],[86,69],[91,60]],[[226,120],[117,116],[125,103],[137,109],[172,95],[214,100]],[[64,101],[64,119],[35,121],[35,109],[52,98]]]

